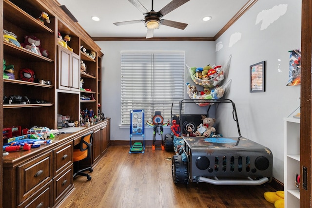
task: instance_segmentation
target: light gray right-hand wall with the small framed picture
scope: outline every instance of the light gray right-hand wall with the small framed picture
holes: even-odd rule
[[[283,10],[286,5],[280,4],[287,4],[286,12]],[[273,7],[274,15],[269,13]],[[256,24],[257,15],[263,10],[268,12],[264,16],[266,19]],[[265,27],[261,24],[266,22],[272,23],[266,24],[267,28],[261,30],[261,27]],[[238,33],[241,38],[230,44],[231,36]],[[241,134],[273,152],[273,177],[284,182],[283,118],[300,105],[300,85],[286,84],[289,78],[288,51],[301,47],[301,1],[258,0],[215,41],[216,45],[220,42],[223,48],[216,51],[216,62],[232,54],[228,74],[232,83],[227,97],[236,104]],[[263,60],[266,62],[266,91],[250,93],[249,66]],[[216,117],[222,121],[222,133],[232,134],[236,131],[228,128],[225,115]]]

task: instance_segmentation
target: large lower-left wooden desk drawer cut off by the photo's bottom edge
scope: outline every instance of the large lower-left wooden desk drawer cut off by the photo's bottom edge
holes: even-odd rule
[[[52,208],[52,181],[23,201],[18,208]]]

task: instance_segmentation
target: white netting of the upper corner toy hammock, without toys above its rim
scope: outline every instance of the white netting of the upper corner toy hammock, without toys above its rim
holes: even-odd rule
[[[219,72],[219,74],[222,74],[225,76],[227,70],[229,69],[230,67],[230,61],[231,61],[231,57],[232,55],[230,55],[230,57],[226,60],[225,64],[222,66],[222,69],[221,71]],[[203,79],[199,79],[197,78],[191,71],[191,67],[189,67],[187,64],[185,64],[186,67],[188,68],[188,72],[190,73],[191,75],[191,78],[193,79],[193,81],[195,82],[195,84],[198,84],[198,85],[201,85],[203,86],[204,88],[214,88],[219,82],[221,82],[222,80],[220,79],[206,79],[206,80],[203,80]],[[215,67],[212,66],[213,68]],[[225,78],[225,77],[224,77]]]

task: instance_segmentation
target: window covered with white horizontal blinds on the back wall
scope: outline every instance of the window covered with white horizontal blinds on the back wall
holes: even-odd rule
[[[143,109],[153,123],[155,111],[164,122],[179,112],[184,98],[185,52],[121,52],[121,125],[130,124],[130,110]]]

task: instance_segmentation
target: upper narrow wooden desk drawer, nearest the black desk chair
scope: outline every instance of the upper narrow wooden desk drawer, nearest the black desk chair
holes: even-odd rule
[[[73,141],[67,142],[64,145],[53,150],[54,156],[54,176],[58,175],[68,165],[73,163]]]

